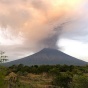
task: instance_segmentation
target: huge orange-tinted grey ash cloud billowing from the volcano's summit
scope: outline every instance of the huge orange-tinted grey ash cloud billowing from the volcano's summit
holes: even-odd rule
[[[29,53],[45,47],[57,48],[59,36],[75,30],[72,27],[81,17],[81,3],[82,0],[0,0],[0,30],[4,39],[22,41],[6,45],[5,50]]]

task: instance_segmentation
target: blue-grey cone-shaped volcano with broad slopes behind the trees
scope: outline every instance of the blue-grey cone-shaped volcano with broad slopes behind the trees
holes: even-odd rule
[[[17,64],[24,65],[86,65],[87,62],[69,56],[59,50],[45,48],[31,56],[5,63],[6,66]]]

